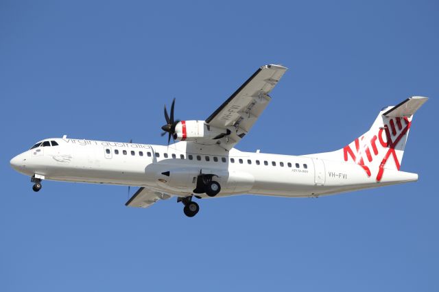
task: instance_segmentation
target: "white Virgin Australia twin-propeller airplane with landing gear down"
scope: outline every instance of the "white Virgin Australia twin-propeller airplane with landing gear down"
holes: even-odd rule
[[[64,135],[38,141],[10,165],[31,177],[36,192],[43,180],[138,186],[126,206],[147,208],[176,197],[187,217],[200,210],[194,197],[320,197],[418,180],[400,168],[413,115],[427,97],[383,108],[367,132],[335,151],[289,156],[236,149],[286,70],[261,66],[205,121],[174,119],[174,99],[170,114],[164,109],[167,145]]]

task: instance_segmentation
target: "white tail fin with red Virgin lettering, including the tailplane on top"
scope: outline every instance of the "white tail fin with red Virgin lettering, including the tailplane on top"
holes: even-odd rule
[[[427,97],[410,97],[397,106],[383,108],[368,132],[342,149],[312,156],[355,162],[379,182],[384,169],[401,167],[413,114],[425,101]]]

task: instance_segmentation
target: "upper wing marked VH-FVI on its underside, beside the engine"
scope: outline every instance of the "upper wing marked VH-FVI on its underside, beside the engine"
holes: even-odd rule
[[[227,133],[217,139],[218,145],[231,149],[250,131],[271,100],[268,93],[286,70],[287,68],[281,65],[261,66],[206,119],[207,125],[224,129],[224,133]]]

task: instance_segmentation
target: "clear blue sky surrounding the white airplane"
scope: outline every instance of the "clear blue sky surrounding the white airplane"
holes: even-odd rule
[[[1,1],[0,291],[438,291],[437,1]],[[413,184],[318,199],[126,208],[127,188],[44,182],[41,138],[163,144],[163,104],[206,119],[259,66],[289,67],[238,149],[307,154],[430,97]]]

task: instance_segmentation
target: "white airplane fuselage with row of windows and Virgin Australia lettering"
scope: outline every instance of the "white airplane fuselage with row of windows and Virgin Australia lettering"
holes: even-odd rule
[[[314,197],[418,178],[388,169],[377,182],[352,162],[226,151],[191,142],[162,146],[71,138],[47,141],[58,146],[29,149],[11,160],[12,167],[45,180],[145,186],[180,197],[193,193],[200,173],[214,175],[222,186],[218,197],[242,193]]]

